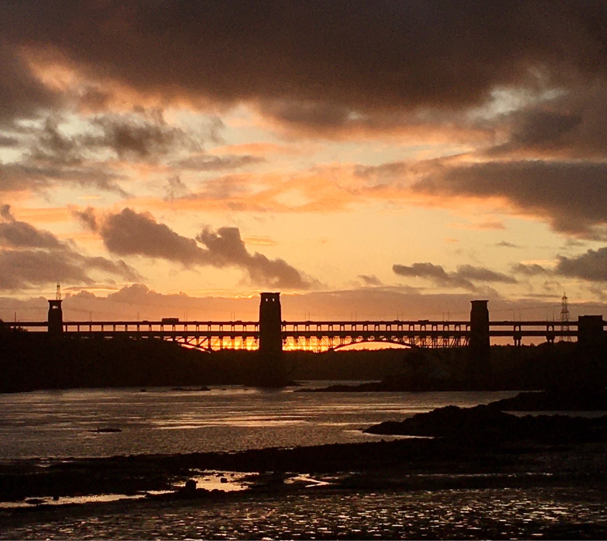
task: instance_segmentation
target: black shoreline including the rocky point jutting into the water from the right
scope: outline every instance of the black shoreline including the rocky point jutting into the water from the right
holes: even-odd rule
[[[522,417],[504,412],[504,409],[515,411],[520,409],[517,406],[533,406],[535,411],[541,411],[543,407],[552,410],[558,405],[555,402],[558,399],[562,406],[575,404],[586,405],[587,409],[592,409],[590,406],[607,409],[605,389],[580,389],[569,394],[562,391],[521,392],[488,405],[469,408],[444,406],[402,421],[387,421],[361,429],[361,432],[378,436],[408,436],[390,441],[381,439],[243,451],[4,460],[0,462],[0,501],[169,491],[176,482],[185,482],[204,471],[272,472],[283,476],[287,473],[334,474],[344,471],[363,474],[389,469],[408,474],[492,474],[493,477],[504,472],[515,475],[523,472],[554,474],[554,471],[534,466],[533,457],[549,453],[555,463],[567,462],[572,449],[575,449],[582,457],[580,463],[585,462],[596,449],[607,448],[607,416]],[[518,460],[517,454],[527,459]],[[492,468],[480,468],[479,457],[481,462],[492,463]],[[592,460],[604,462],[607,475],[607,458],[600,456]],[[576,475],[584,471],[577,463],[571,463],[568,468],[569,471],[579,470]],[[597,479],[603,477],[601,474]],[[419,484],[421,479],[415,483]]]

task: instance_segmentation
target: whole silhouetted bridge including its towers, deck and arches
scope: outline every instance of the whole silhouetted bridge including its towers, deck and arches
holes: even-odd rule
[[[353,344],[384,343],[410,348],[462,348],[487,354],[490,338],[545,338],[571,340],[578,334],[603,332],[602,316],[580,316],[578,321],[490,321],[486,300],[473,300],[470,320],[461,321],[283,321],[280,293],[262,293],[259,321],[64,321],[61,300],[49,300],[47,321],[4,323],[9,328],[47,331],[72,338],[158,338],[187,346],[260,351],[325,351]]]

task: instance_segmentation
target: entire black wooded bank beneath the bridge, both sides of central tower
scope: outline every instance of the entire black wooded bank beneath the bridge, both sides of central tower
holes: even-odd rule
[[[604,348],[588,357],[575,343],[492,346],[483,374],[452,349],[285,352],[288,380],[382,380],[384,391],[546,389],[605,385]],[[592,362],[589,361],[589,358]],[[0,332],[0,392],[88,387],[256,385],[254,351],[203,352],[157,339],[53,337]]]

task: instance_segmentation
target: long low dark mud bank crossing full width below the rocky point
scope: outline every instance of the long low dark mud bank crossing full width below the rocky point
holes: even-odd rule
[[[605,440],[438,437],[240,452],[15,460],[0,465],[0,500],[167,491],[205,471],[266,475],[273,491],[283,486],[278,479],[283,481],[287,474],[341,472],[348,474],[332,488],[495,488],[517,483],[578,485],[590,479],[607,484]]]

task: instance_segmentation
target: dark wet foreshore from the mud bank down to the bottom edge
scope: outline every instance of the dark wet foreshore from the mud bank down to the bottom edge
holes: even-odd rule
[[[9,480],[13,499],[22,497],[19,486],[27,497],[83,494],[85,486],[90,494],[143,496],[211,469],[266,473],[252,475],[243,491],[0,509],[0,539],[600,539],[607,535],[605,451],[605,442],[407,439],[22,461],[2,466],[4,499]]]

